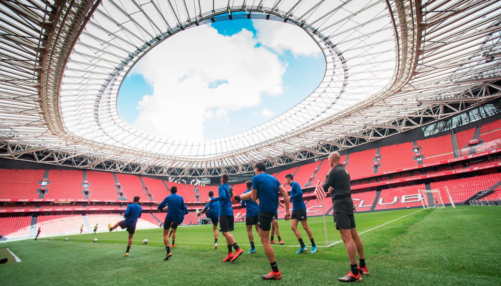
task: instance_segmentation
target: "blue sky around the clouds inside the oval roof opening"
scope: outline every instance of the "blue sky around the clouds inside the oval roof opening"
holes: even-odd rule
[[[261,21],[264,23],[256,23],[253,21]],[[218,34],[224,36],[234,36],[235,34],[241,32],[242,29],[245,29],[252,32],[254,35],[253,38],[257,39],[257,36],[259,36],[257,35],[259,31],[257,31],[255,26],[259,25],[259,29],[263,29],[260,31],[265,31],[264,29],[266,29],[266,25],[268,25],[267,22],[269,23],[272,21],[246,19],[232,20],[212,23],[211,27],[216,29]],[[274,25],[276,26],[277,24]],[[279,25],[279,28],[280,27],[281,26]],[[274,28],[272,27],[270,29]],[[174,37],[176,37],[176,35]],[[277,46],[281,44],[273,43],[273,34],[270,34],[267,37],[267,39],[265,39],[264,36],[262,37],[263,41],[266,43],[263,44],[261,43],[261,41],[256,41],[255,47],[266,48],[276,57],[278,57],[278,60],[282,63],[282,66],[285,67],[285,72],[282,74],[281,86],[283,92],[279,94],[269,94],[268,92],[261,92],[261,102],[259,104],[252,104],[252,106],[244,106],[241,108],[235,108],[233,110],[224,109],[224,112],[222,112],[224,116],[213,116],[211,118],[204,117],[205,119],[203,122],[203,127],[201,127],[201,129],[194,129],[201,130],[203,134],[200,134],[200,136],[195,136],[193,138],[219,138],[258,126],[291,109],[298,102],[302,101],[305,97],[310,95],[318,87],[323,79],[325,72],[325,59],[320,52],[320,48],[318,48],[318,53],[315,53],[314,55],[303,55],[301,54],[301,50],[296,50],[294,48],[295,46],[299,45],[290,43],[290,45],[292,45],[292,48],[288,48],[287,45],[285,47]],[[292,39],[292,41],[294,42],[294,34],[291,34],[291,37],[292,38],[290,39]],[[236,37],[231,38],[233,39]],[[313,42],[313,40],[311,41]],[[301,47],[298,47],[298,49],[300,48]],[[305,53],[311,54],[311,52]],[[141,59],[140,62],[142,60],[143,59]],[[259,61],[260,59],[249,60]],[[259,72],[260,71],[257,71],[257,73]],[[179,77],[180,81],[184,80],[184,77],[182,75],[179,75]],[[139,102],[143,99],[143,96],[152,95],[154,93],[155,85],[154,81],[149,80],[150,77],[146,78],[147,79],[145,79],[145,76],[143,76],[141,71],[138,72],[134,68],[133,72],[129,73],[129,75],[124,79],[120,88],[120,92],[118,94],[118,110],[120,116],[127,123],[140,130],[145,130],[145,128],[147,129],[148,126],[146,125],[148,124],[145,120],[138,120],[139,122],[136,121],[141,110],[140,108],[138,108]],[[219,87],[225,86],[226,84],[228,84],[228,81],[226,79],[211,80],[207,83],[207,88],[217,89]],[[179,101],[176,101],[176,104],[182,105],[182,101],[180,103]],[[171,108],[175,108],[175,105],[173,104]],[[215,114],[218,112],[218,107],[210,107],[207,108],[206,111],[209,113],[213,112]],[[146,112],[146,110],[143,109],[143,112]],[[197,121],[195,121],[194,124],[198,124]],[[190,126],[186,127],[189,128]],[[156,133],[154,129],[147,129],[145,131],[149,133]],[[161,134],[155,135],[170,135],[166,135],[166,133],[162,132],[160,133]],[[177,132],[176,134],[179,134],[179,132]],[[183,140],[183,138],[181,137],[179,137],[179,140]]]

